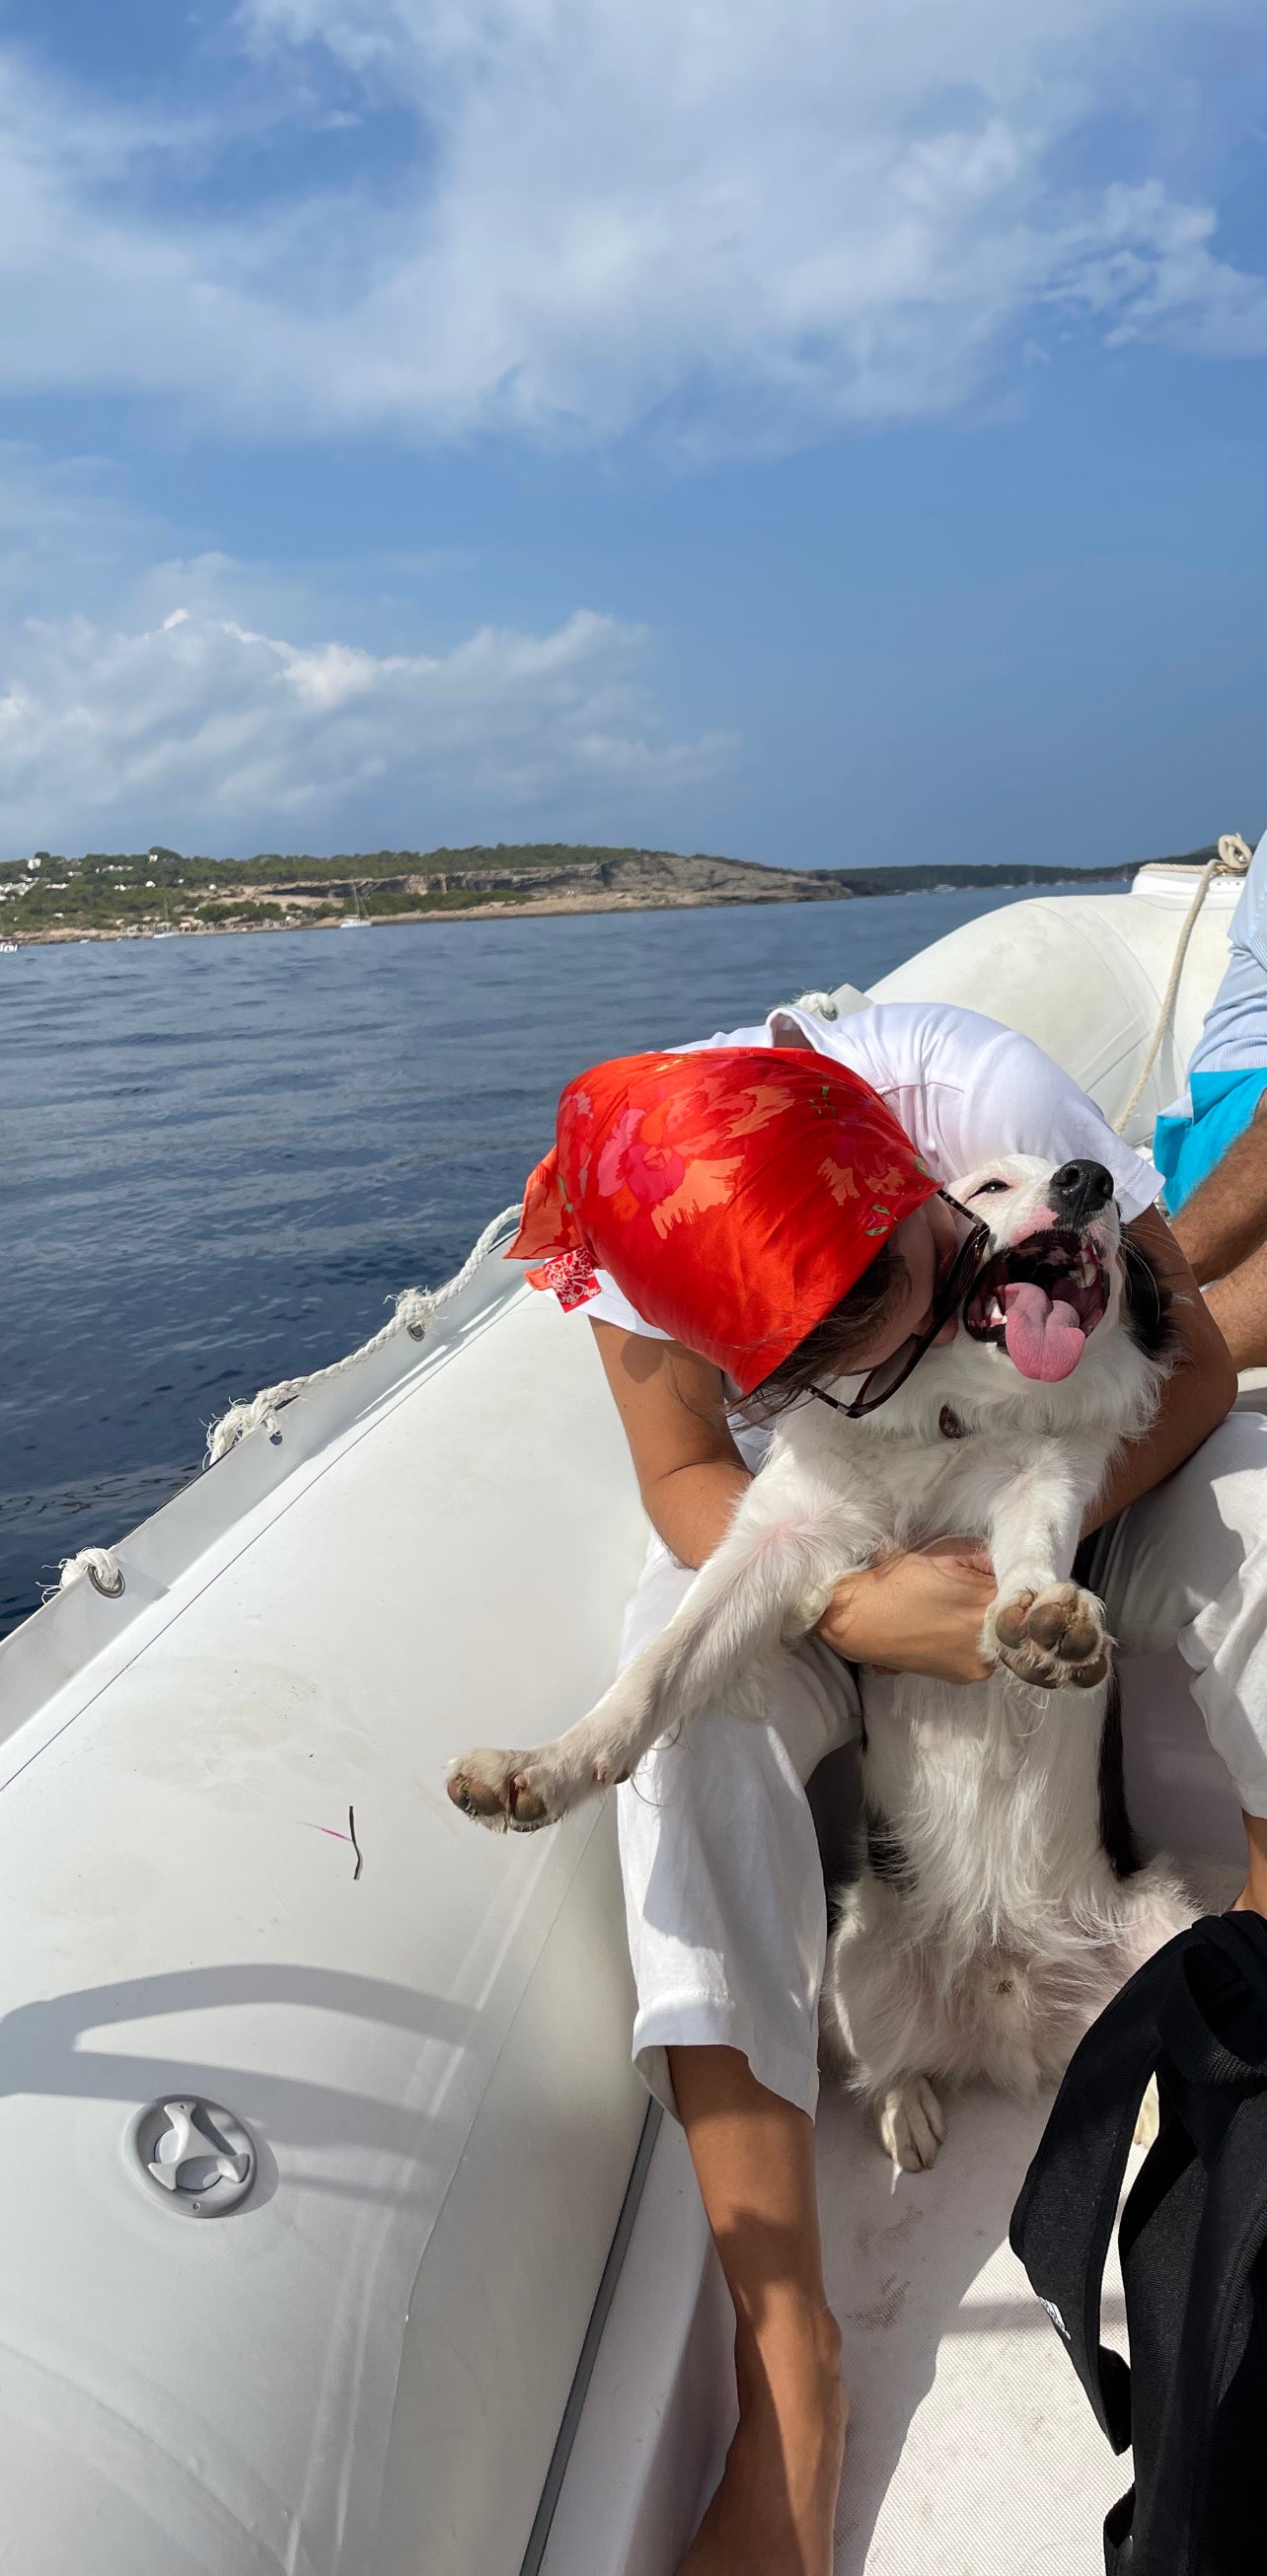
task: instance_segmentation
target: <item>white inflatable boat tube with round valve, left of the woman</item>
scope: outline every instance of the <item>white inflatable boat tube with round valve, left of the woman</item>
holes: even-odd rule
[[[644,1535],[590,1350],[512,1273],[482,1293],[492,1365],[458,1316],[404,1383],[327,1394],[332,1437],[286,1414],[124,1543],[121,1602],[80,1582],[3,1651],[23,2576],[80,2519],[93,2576],[523,2555],[644,2099],[610,1811],[492,1842],[443,1767],[592,1698]],[[242,2213],[129,2169],[167,2094],[258,2138]]]

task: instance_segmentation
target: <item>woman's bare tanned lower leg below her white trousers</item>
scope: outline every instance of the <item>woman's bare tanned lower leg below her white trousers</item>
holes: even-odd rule
[[[734,2300],[739,2429],[680,2576],[832,2576],[847,2398],[821,2280],[814,2123],[737,2048],[670,2048]]]

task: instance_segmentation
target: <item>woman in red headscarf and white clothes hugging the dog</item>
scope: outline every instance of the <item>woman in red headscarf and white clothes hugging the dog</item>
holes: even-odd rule
[[[1190,1365],[1112,1473],[1097,1522],[1149,1497],[1223,1419],[1236,1378],[1154,1211],[1156,1175],[1025,1038],[971,1012],[878,1005],[834,1028],[775,1012],[708,1048],[569,1084],[515,1244],[520,1257],[549,1252],[536,1285],[595,1324],[657,1533],[626,1656],[672,1618],[760,1463],[762,1435],[731,1419],[737,1388],[778,1396],[780,1370],[803,1376],[816,1347],[824,1373],[863,1373],[958,1329],[945,1311],[958,1218],[937,1185],[994,1154],[1107,1164],[1128,1231],[1182,1298]],[[765,1126],[762,1077],[791,1092]],[[832,1177],[842,1170],[847,1190]],[[1187,1479],[1172,1481],[1177,1515],[1138,1504],[1092,1579],[1131,1646],[1182,1636],[1257,1821],[1267,1623],[1264,1579],[1246,1582],[1244,1558],[1254,1515],[1267,1525],[1267,1425],[1239,1417],[1231,1430],[1244,1455],[1223,1461],[1228,1473],[1203,1461],[1187,1502]],[[1231,1473],[1246,1463],[1249,1479]],[[713,1710],[618,1793],[636,2063],[682,2120],[737,2313],[739,2429],[682,2576],[832,2568],[845,2391],[814,2182],[827,1906],[803,1783],[858,1736],[855,1664],[981,1680],[991,1589],[953,1543],[847,1577],[816,1638],[783,1656],[765,1723]],[[1267,1826],[1252,1837],[1254,1870],[1267,1891]]]

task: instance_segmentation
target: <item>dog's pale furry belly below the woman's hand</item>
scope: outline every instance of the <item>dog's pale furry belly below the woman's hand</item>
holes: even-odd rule
[[[1138,1965],[1100,1842],[1105,1692],[865,1677],[878,1824],[847,1891],[824,2027],[865,2092],[919,2071],[1028,2094]],[[1164,1935],[1161,1935],[1164,1937]]]

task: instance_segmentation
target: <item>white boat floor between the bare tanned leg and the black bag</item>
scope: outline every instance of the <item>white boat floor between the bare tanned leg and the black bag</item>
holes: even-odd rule
[[[1100,2522],[1131,2463],[1102,2439],[1007,2244],[1046,2102],[976,2092],[948,2110],[932,2172],[899,2177],[852,2105],[819,2117],[852,2396],[837,2576],[1102,2576]],[[1110,2342],[1120,2324],[1112,2277]]]

